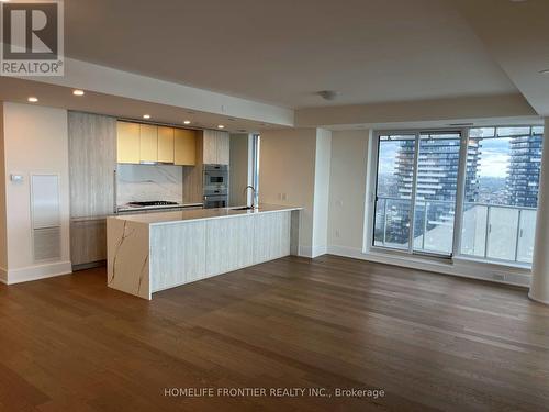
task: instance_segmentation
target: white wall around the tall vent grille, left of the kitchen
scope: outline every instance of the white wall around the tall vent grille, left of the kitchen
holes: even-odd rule
[[[3,103],[8,282],[71,271],[69,250],[69,175],[67,111]],[[23,182],[10,181],[23,175]],[[61,258],[35,264],[31,222],[31,175],[58,174],[60,179]]]

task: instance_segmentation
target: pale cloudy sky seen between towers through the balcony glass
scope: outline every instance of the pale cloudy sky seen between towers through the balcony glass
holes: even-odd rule
[[[393,174],[399,142],[382,142],[380,147],[380,174]],[[480,177],[505,178],[509,162],[508,138],[484,138],[481,148]]]

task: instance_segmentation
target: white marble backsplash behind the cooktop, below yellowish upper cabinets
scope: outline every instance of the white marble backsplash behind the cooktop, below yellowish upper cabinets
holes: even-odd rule
[[[149,200],[183,201],[183,167],[171,165],[119,165],[116,204]]]

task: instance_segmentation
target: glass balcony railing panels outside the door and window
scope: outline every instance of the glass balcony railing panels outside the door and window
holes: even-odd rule
[[[411,200],[378,197],[374,245],[408,249]],[[416,200],[413,249],[449,255],[453,245],[455,202]],[[464,203],[461,255],[531,264],[536,209]]]

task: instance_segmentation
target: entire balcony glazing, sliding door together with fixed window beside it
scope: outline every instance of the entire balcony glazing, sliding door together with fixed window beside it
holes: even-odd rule
[[[542,135],[541,126],[378,134],[372,246],[531,264]]]

